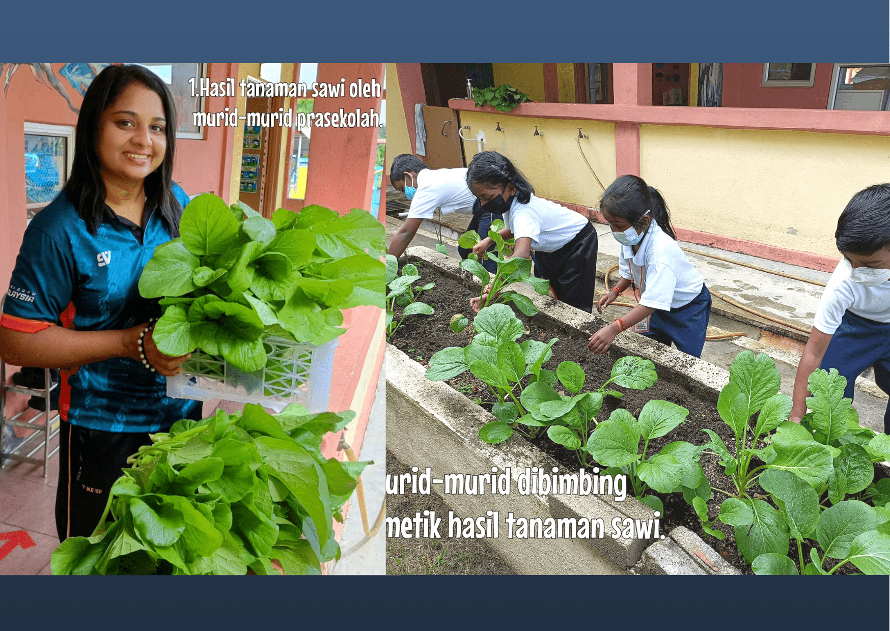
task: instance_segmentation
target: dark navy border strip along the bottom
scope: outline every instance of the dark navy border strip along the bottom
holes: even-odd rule
[[[0,577],[38,628],[887,628],[886,577]],[[826,598],[827,596],[827,598]],[[665,623],[675,623],[666,626]]]

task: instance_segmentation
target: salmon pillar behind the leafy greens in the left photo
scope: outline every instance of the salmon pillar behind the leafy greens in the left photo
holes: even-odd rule
[[[360,109],[360,114],[370,114],[374,109],[379,119],[383,94],[384,64],[382,63],[320,63],[316,79],[319,84],[344,85],[344,95],[334,98],[316,98],[312,110],[336,113],[341,109],[348,115]],[[341,82],[341,79],[345,81]],[[378,87],[370,98],[361,93],[350,96],[350,85]],[[369,88],[370,89],[370,88]],[[360,116],[358,116],[360,118]],[[370,127],[318,127],[312,126],[312,143],[309,150],[309,172],[306,175],[306,205],[318,204],[346,214],[352,208],[371,207],[374,193],[374,166],[376,163],[378,126]],[[374,400],[377,377],[383,360],[384,311],[378,307],[354,307],[344,311],[346,333],[339,337],[340,344],[334,355],[334,374],[328,409],[341,412],[352,409],[358,422],[346,428],[345,440],[359,453],[368,415]],[[326,457],[344,459],[337,452],[339,434],[328,435],[321,443]],[[336,524],[337,530],[340,525]]]

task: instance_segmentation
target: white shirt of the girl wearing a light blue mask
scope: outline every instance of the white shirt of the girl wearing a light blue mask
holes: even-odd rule
[[[618,259],[622,279],[641,287],[639,303],[651,309],[668,311],[688,304],[701,293],[704,277],[684,255],[680,245],[652,221],[649,231],[634,254],[631,246],[621,246]],[[642,273],[641,273],[642,272]]]

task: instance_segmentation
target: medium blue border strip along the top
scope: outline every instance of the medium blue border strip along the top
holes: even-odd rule
[[[8,2],[38,61],[887,61],[886,0]],[[134,50],[149,53],[134,54]]]

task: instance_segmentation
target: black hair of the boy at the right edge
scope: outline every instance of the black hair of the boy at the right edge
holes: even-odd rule
[[[890,247],[890,184],[872,184],[856,193],[837,219],[837,249],[873,255]]]

